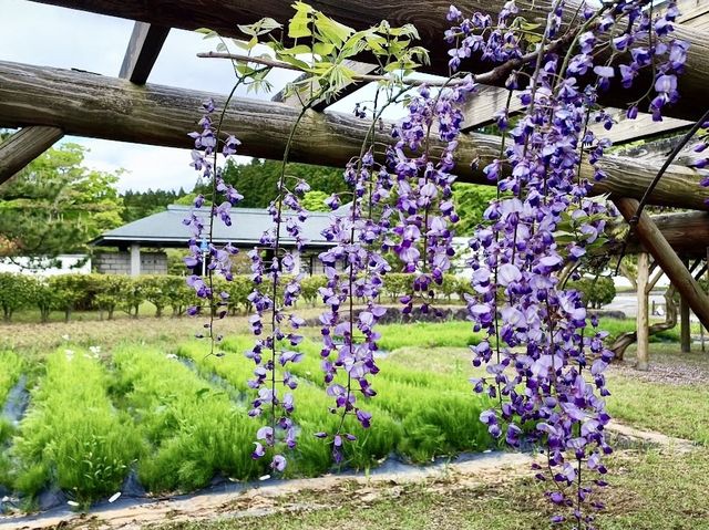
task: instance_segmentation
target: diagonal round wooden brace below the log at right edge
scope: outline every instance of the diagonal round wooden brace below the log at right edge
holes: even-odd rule
[[[614,202],[626,221],[635,216],[639,206],[636,199],[628,198],[614,199]],[[662,268],[667,278],[669,278],[680,294],[687,300],[687,303],[701,323],[709,325],[709,297],[701,290],[697,280],[695,280],[689,270],[687,270],[682,260],[675,253],[672,247],[667,242],[665,236],[662,236],[662,232],[646,212],[643,212],[640,216],[635,227],[635,233],[643,246]]]

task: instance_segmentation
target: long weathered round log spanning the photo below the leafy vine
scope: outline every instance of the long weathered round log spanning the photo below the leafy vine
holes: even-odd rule
[[[191,147],[187,132],[197,127],[199,107],[225,97],[205,92],[151,85],[85,72],[0,62],[0,125],[50,125],[65,134],[120,142]],[[223,131],[242,141],[239,154],[280,159],[299,111],[282,103],[238,98],[232,102]],[[384,158],[391,144],[390,124],[376,127],[376,155]],[[343,113],[306,113],[290,148],[294,162],[342,166],[359,154],[369,131],[367,121]],[[482,168],[499,156],[501,138],[471,134],[460,138],[456,173],[462,181],[491,184]],[[445,145],[432,142],[435,156]],[[477,160],[477,165],[472,165]],[[651,164],[607,156],[602,164],[608,178],[595,193],[640,197],[657,168]],[[580,177],[593,179],[593,167],[582,164]],[[700,174],[670,166],[650,202],[678,208],[708,209]]]

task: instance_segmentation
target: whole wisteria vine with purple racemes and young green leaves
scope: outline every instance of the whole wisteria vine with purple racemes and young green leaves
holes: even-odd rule
[[[505,81],[507,105],[496,114],[502,135],[499,155],[485,159],[480,170],[473,167],[497,187],[497,198],[470,240],[472,294],[466,297],[466,305],[475,331],[487,333],[472,346],[473,364],[484,365],[487,375],[471,382],[475,392],[497,403],[481,415],[494,438],[504,438],[515,447],[533,444],[541,448],[544,458],[543,464],[535,464],[536,477],[548,485],[546,496],[557,507],[552,521],[595,528],[586,507],[603,507],[598,495],[598,488],[606,485],[603,456],[612,453],[605,434],[610,417],[604,401],[609,395],[604,373],[612,353],[604,346],[606,334],[598,330],[597,319],[588,316],[577,291],[565,289],[559,273],[567,263],[582,260],[605,229],[604,204],[589,197],[593,183],[605,178],[600,160],[610,146],[590,128],[594,122],[603,123],[606,129],[613,126],[613,115],[599,104],[604,92],[613,84],[629,89],[647,79],[643,71],[648,72],[649,86],[628,105],[628,118],[647,108],[655,119],[661,119],[664,108],[679,97],[677,76],[684,70],[687,44],[672,37],[676,4],[670,2],[655,12],[651,3],[641,0],[605,2],[598,9],[566,7],[556,0],[538,31],[524,20],[513,0],[505,3],[496,20],[490,14],[466,14],[452,6],[448,12],[451,28],[444,34],[451,45],[451,73],[444,82],[431,84],[408,83],[403,76],[413,58],[425,55],[409,44],[415,33],[411,28],[392,29],[382,23],[368,33],[372,44],[302,2],[294,7],[297,23],[291,21],[288,34],[312,39],[309,50],[314,61],[316,55],[320,61],[328,55],[316,53],[315,44],[335,53],[328,56],[336,66],[342,60],[332,52],[338,46],[361,52],[371,45],[368,51],[380,63],[384,80],[373,107],[358,105],[354,110],[356,116],[371,119],[371,125],[359,156],[345,169],[350,200],[342,204],[342,196],[331,196],[326,201],[332,221],[323,236],[333,245],[319,256],[327,277],[327,285],[319,291],[326,305],[320,316],[321,356],[327,394],[335,403],[331,412],[341,420],[337,430],[315,436],[331,445],[339,463],[346,444],[356,440],[348,430],[348,418],[364,428],[372,422],[366,403],[376,395],[371,376],[379,371],[376,324],[386,309],[377,300],[383,276],[392,269],[386,256],[395,256],[397,267],[413,276],[411,292],[401,299],[402,312],[410,314],[414,308],[435,311],[432,284],[443,281],[455,254],[458,215],[452,186],[463,125],[461,105],[475,97],[477,89],[476,76],[464,71],[465,63],[471,58],[479,63],[514,63],[517,66],[510,69]],[[256,38],[280,24],[269,21],[248,28]],[[359,40],[351,44],[351,39]],[[297,66],[289,59],[292,49],[285,50],[280,40],[270,45]],[[259,60],[258,64],[266,64],[264,70],[244,76],[257,75],[263,81],[263,72],[271,67],[269,62]],[[397,69],[400,75],[387,77]],[[286,167],[290,143],[309,102],[335,93],[346,77],[342,72],[336,75],[335,66],[321,77],[304,70],[310,74],[306,82],[318,90],[302,102],[285,149],[277,198],[268,208],[273,228],[248,253],[255,285],[249,295],[255,313],[249,322],[256,342],[247,357],[256,365],[249,386],[257,392],[249,415],[268,418],[258,430],[254,458],[269,454],[270,467],[279,472],[287,465],[282,446],[296,446],[289,391],[298,382],[287,367],[300,360],[297,346],[302,335],[298,330],[305,323],[291,311],[300,292],[300,271],[295,256],[284,249],[282,238],[287,235],[298,249],[302,247],[301,224],[307,216],[299,197],[308,190],[305,181],[289,187]],[[408,96],[407,116],[392,127],[382,152],[384,135],[378,131],[382,112],[399,103],[413,84],[418,90]],[[513,97],[523,107],[516,116],[510,113]],[[223,142],[226,157],[236,153],[239,143],[233,136],[219,139],[222,121],[215,127],[214,104],[205,104],[204,111],[202,131],[192,134],[193,165],[213,183],[210,215],[207,226],[201,215],[205,198],[197,197],[196,209],[186,220],[194,231],[186,264],[195,268],[208,259],[208,281],[193,274],[188,283],[209,309],[205,329],[214,353],[220,341],[214,333],[214,315],[225,313],[220,308],[226,304],[226,293],[218,298],[213,293],[212,271],[230,279],[230,256],[236,250],[229,243],[213,245],[213,224],[218,218],[229,225],[229,209],[243,197],[224,183],[217,166],[218,143]],[[707,148],[708,137],[705,131],[696,153]],[[705,167],[708,160],[698,158],[695,166]],[[702,185],[709,186],[709,179]],[[217,205],[219,196],[224,201]],[[203,237],[208,237],[206,250],[199,245]],[[198,312],[199,305],[191,310]]]

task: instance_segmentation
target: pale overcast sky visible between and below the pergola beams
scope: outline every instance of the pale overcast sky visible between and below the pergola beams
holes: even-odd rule
[[[117,76],[131,37],[133,21],[104,17],[27,0],[0,0],[0,60],[80,69]],[[226,61],[196,58],[214,41],[201,34],[173,29],[151,73],[150,83],[227,93],[234,73]],[[274,72],[275,92],[294,77],[294,72]],[[364,89],[366,90],[366,89]],[[273,94],[249,94],[270,98]],[[361,93],[339,102],[349,112]],[[185,132],[186,133],[186,132]],[[235,132],[238,136],[238,132]],[[120,188],[192,189],[196,175],[189,167],[189,152],[167,147],[65,137],[90,152],[86,165],[101,170],[126,169]]]

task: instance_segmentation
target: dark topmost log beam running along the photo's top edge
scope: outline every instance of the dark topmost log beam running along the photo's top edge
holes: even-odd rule
[[[138,20],[153,24],[195,30],[210,28],[225,37],[240,37],[237,23],[256,22],[264,17],[274,18],[280,22],[290,19],[294,10],[290,2],[282,0],[33,0],[40,3],[62,6],[65,8],[111,14],[124,19]],[[565,2],[565,13],[571,22],[572,13],[580,7],[583,0]],[[424,71],[439,75],[449,75],[448,49],[443,41],[443,32],[450,27],[445,14],[451,4],[450,0],[429,0],[427,2],[411,2],[409,0],[311,0],[309,2],[336,20],[361,30],[388,20],[392,25],[412,23],[421,35],[420,44],[431,53],[431,65]],[[455,2],[464,13],[481,11],[496,17],[505,4],[505,0],[460,0]],[[528,22],[545,23],[554,2],[538,0],[517,2],[518,15]],[[701,31],[677,25],[674,35],[689,43],[687,51],[686,71],[680,76],[679,92],[681,98],[671,107],[664,110],[667,116],[685,119],[698,119],[703,107],[696,102],[706,98],[706,86],[709,84],[709,39]],[[641,42],[638,42],[641,44]],[[362,58],[367,62],[367,58]],[[490,69],[490,64],[471,63],[474,73]],[[626,103],[640,97],[653,82],[649,72],[644,74],[644,81],[638,81],[631,90],[613,84],[603,95],[603,103],[607,106],[624,107]],[[616,76],[616,81],[617,77]]]

